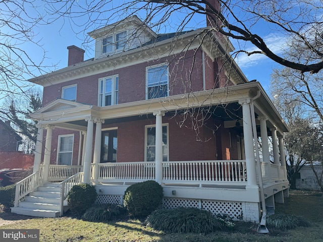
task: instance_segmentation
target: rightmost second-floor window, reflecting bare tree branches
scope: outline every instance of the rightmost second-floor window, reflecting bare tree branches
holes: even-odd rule
[[[146,68],[146,99],[168,96],[168,65]]]

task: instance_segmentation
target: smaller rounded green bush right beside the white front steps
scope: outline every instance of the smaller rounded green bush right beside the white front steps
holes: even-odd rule
[[[94,186],[81,183],[72,187],[67,195],[67,203],[71,212],[78,216],[82,215],[96,200],[96,190]]]

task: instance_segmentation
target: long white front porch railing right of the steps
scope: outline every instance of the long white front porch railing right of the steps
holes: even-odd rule
[[[91,180],[95,164],[91,165]],[[155,179],[155,162],[97,164],[98,181],[142,181]],[[247,181],[245,160],[167,161],[163,162],[163,181],[186,184]]]

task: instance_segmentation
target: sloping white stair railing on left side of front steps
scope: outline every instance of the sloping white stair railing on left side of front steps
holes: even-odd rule
[[[34,191],[40,185],[39,181],[39,172],[33,173],[26,178],[18,181],[16,184],[16,194],[15,194],[15,203],[14,206],[18,206],[18,202],[20,199],[25,197],[27,194]]]

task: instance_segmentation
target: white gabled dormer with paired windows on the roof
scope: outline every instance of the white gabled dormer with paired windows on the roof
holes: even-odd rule
[[[137,16],[93,30],[88,35],[95,39],[95,59],[137,48],[157,36]]]

